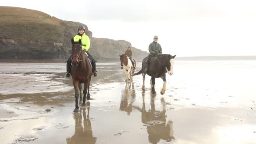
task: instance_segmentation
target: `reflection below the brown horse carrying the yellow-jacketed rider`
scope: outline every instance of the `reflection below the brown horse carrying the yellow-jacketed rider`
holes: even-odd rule
[[[86,105],[90,106],[90,102],[87,101]],[[71,138],[67,138],[66,142],[67,144],[95,144],[97,141],[97,137],[93,137],[92,135],[92,124],[89,120],[90,107],[87,108],[87,116],[86,108],[80,108],[80,111],[80,113],[74,113],[75,134]]]

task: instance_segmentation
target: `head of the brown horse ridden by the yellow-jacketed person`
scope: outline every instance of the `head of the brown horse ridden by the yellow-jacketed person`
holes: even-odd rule
[[[74,39],[71,39],[72,43],[72,61],[75,64],[75,66],[78,65],[80,61],[82,61],[83,58],[83,52],[82,52],[82,42],[81,39],[79,39],[78,42],[75,42]],[[82,60],[81,60],[82,59]]]

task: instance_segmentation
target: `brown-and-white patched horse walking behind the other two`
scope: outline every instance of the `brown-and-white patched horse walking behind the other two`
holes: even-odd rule
[[[134,73],[135,69],[132,67],[131,60],[125,54],[119,55],[121,66],[125,71],[125,81],[129,81],[131,79],[131,70]],[[134,60],[134,59],[133,59]],[[136,61],[134,60],[134,67],[136,67]]]

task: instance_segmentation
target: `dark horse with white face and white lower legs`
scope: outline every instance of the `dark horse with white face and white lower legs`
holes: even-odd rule
[[[164,87],[161,90],[161,95],[164,95],[165,91],[166,91],[166,69],[168,70],[168,74],[172,75],[173,74],[173,65],[174,65],[174,58],[176,55],[171,56],[168,54],[161,54],[158,56],[155,56],[151,59],[151,62],[149,64],[149,71],[146,73],[145,72],[145,68],[146,68],[146,60],[148,59],[148,57],[144,58],[142,61],[142,68],[139,72],[132,74],[133,75],[139,75],[142,73],[143,76],[143,85],[142,85],[142,90],[145,90],[145,76],[146,74],[148,74],[149,76],[151,76],[151,92],[152,94],[155,94],[155,89],[154,89],[154,85],[155,85],[155,78],[161,78],[164,81]]]

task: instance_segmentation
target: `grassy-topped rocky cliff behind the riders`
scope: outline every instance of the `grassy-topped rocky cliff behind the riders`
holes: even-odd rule
[[[69,57],[71,38],[77,34],[78,22],[59,20],[36,10],[0,7],[0,59],[62,59]],[[89,52],[98,62],[118,62],[119,54],[131,43],[124,40],[93,38]],[[142,60],[147,52],[132,48],[133,57]]]

